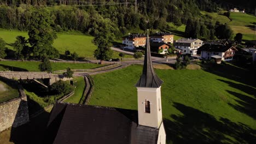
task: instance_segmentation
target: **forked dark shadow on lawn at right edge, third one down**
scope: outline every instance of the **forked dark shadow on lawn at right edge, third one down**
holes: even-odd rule
[[[236,92],[227,92],[238,98],[235,99],[235,101],[237,101],[239,105],[229,103],[230,106],[234,107],[235,110],[245,113],[249,117],[256,119],[256,99]]]

